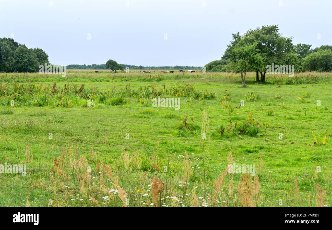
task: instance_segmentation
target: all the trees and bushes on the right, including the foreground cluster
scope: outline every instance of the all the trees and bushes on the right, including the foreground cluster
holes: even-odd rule
[[[292,43],[283,37],[278,25],[249,29],[232,34],[232,40],[220,60],[205,65],[207,72],[237,72],[245,85],[245,74],[256,72],[256,80],[265,82],[268,65],[294,65],[295,72],[332,71],[332,46],[311,49],[308,44]],[[260,78],[259,78],[260,77]]]

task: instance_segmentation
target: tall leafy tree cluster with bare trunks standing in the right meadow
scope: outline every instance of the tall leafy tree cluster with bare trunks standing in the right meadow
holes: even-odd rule
[[[298,49],[300,50],[300,47]],[[230,59],[236,64],[233,65],[237,67],[233,72],[256,71],[256,80],[261,82],[265,82],[266,66],[272,63],[285,63],[298,68],[292,38],[283,37],[279,33],[278,25],[249,29],[243,35],[239,32],[233,33],[222,59]],[[258,72],[261,73],[260,80]]]

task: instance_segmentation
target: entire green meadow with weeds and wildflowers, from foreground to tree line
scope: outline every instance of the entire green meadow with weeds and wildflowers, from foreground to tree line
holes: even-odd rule
[[[0,76],[0,206],[331,206],[331,73]]]

